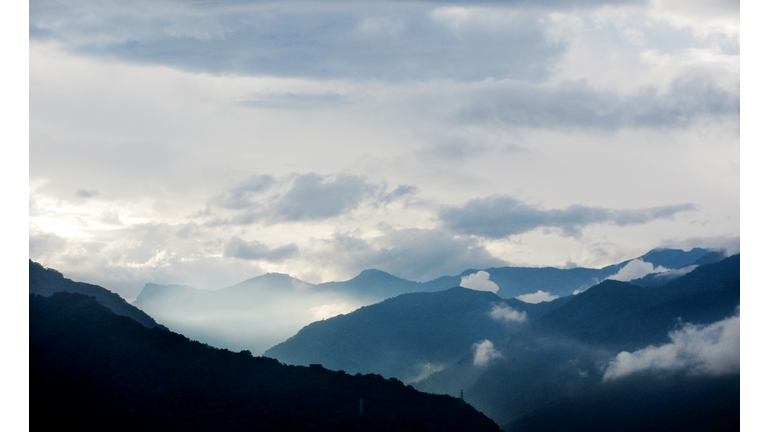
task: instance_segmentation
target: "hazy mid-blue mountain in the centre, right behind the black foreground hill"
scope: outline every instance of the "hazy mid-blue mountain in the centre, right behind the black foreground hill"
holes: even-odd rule
[[[403,294],[314,322],[264,355],[289,364],[321,363],[411,381],[458,361],[474,343],[506,334],[506,326],[490,315],[502,303],[491,292],[459,287]]]

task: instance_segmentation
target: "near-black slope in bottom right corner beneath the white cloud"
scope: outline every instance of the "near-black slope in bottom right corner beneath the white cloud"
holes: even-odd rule
[[[739,376],[637,376],[558,399],[506,432],[738,431]]]

